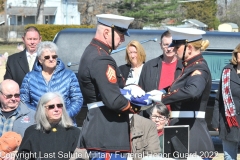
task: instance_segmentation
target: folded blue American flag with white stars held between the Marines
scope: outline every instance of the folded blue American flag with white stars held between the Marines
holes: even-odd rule
[[[142,97],[133,97],[131,95],[131,90],[128,89],[120,89],[121,94],[127,98],[131,103],[137,105],[137,106],[148,106],[150,104],[152,104],[152,100],[148,99],[148,97],[150,96],[150,94],[145,94]]]

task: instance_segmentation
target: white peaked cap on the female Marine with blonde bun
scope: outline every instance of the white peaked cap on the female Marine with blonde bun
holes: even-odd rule
[[[202,39],[202,35],[206,34],[205,31],[196,28],[178,28],[168,27],[172,35],[172,43],[169,47],[174,47],[177,44],[189,43]]]

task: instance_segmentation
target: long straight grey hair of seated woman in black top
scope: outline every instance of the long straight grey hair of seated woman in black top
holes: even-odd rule
[[[72,119],[69,117],[67,113],[62,95],[58,92],[47,92],[44,95],[42,95],[42,97],[38,101],[37,111],[35,114],[35,122],[37,125],[36,126],[37,130],[49,131],[51,129],[51,125],[46,116],[45,104],[54,98],[59,98],[61,103],[63,104],[62,117],[59,122],[59,125],[61,125],[64,128],[69,128],[73,126]]]

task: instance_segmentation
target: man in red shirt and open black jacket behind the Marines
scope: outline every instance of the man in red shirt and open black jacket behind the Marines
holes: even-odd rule
[[[145,92],[154,89],[166,89],[182,72],[182,61],[177,59],[173,47],[168,47],[171,43],[171,33],[165,31],[160,38],[162,55],[144,64],[138,84]],[[167,107],[170,110],[168,105]],[[150,110],[151,108],[141,114],[146,118],[150,118]]]

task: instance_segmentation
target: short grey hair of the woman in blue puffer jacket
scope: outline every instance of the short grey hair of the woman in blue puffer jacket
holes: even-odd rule
[[[55,52],[57,54],[58,47],[51,41],[40,42],[37,47],[37,56],[40,57],[45,50],[49,50],[50,52]]]

